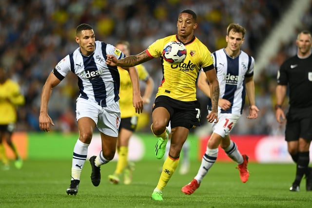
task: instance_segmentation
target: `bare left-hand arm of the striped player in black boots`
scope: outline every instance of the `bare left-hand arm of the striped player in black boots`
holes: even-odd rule
[[[54,126],[53,120],[48,115],[48,103],[52,89],[59,84],[60,80],[51,72],[43,85],[40,101],[39,128],[44,132],[50,132],[50,124]]]

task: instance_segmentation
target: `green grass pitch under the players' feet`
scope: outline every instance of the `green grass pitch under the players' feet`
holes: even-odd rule
[[[216,162],[199,189],[185,195],[181,188],[195,176],[199,161],[193,161],[186,175],[178,171],[163,190],[163,202],[151,200],[163,160],[136,162],[133,183],[108,182],[116,162],[101,167],[102,180],[94,187],[86,161],[76,196],[66,194],[71,160],[26,160],[21,170],[0,170],[0,208],[311,208],[312,191],[289,191],[294,164],[250,163],[250,178],[240,182],[234,163]],[[179,168],[179,167],[178,167]],[[178,170],[178,169],[177,169]]]

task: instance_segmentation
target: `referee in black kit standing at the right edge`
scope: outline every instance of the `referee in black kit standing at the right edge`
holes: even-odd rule
[[[309,148],[312,140],[312,36],[307,30],[296,39],[297,55],[287,59],[277,74],[275,116],[278,123],[286,118],[285,140],[288,152],[296,163],[296,176],[291,191],[299,191],[306,175],[306,190],[312,190],[312,168],[309,167]],[[289,111],[282,104],[289,87]]]

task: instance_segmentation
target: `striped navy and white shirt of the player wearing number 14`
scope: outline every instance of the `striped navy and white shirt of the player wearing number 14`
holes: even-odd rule
[[[254,76],[254,58],[243,51],[239,56],[232,58],[224,48],[215,51],[212,57],[219,80],[220,98],[232,103],[230,109],[226,111],[219,106],[219,112],[242,114],[246,95],[244,79]]]

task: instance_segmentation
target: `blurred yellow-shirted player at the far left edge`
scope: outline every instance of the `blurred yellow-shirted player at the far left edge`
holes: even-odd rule
[[[10,166],[3,141],[6,142],[15,155],[15,167],[20,169],[23,165],[19,152],[12,142],[12,134],[17,121],[17,106],[24,103],[25,98],[20,93],[19,84],[8,78],[7,70],[0,64],[0,156],[4,170],[9,170]]]

